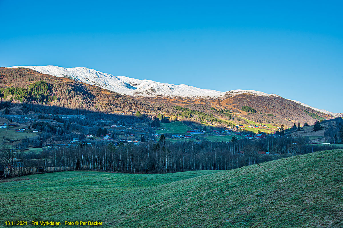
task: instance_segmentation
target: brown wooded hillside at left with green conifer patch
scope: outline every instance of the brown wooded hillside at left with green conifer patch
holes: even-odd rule
[[[148,103],[97,86],[44,75],[26,68],[0,68],[0,86],[3,88],[0,90],[3,98],[11,97],[29,104],[44,103],[82,112],[125,113],[131,109],[144,112],[156,109]]]

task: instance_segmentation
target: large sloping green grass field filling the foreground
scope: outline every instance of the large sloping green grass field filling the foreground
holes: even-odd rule
[[[38,174],[0,183],[0,221],[93,220],[111,228],[339,228],[342,173],[343,150],[331,150],[219,172]]]

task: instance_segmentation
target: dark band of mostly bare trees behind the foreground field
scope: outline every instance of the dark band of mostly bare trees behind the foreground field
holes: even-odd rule
[[[169,173],[235,169],[288,156],[335,149],[308,143],[308,138],[286,136],[232,142],[203,141],[201,144],[192,141],[170,143],[162,135],[157,143],[141,142],[139,146],[81,143],[71,148],[62,146],[31,155],[2,146],[0,162],[8,168],[7,176],[25,175],[36,166],[51,172],[75,170],[77,167],[123,173]],[[259,151],[268,151],[269,154],[259,155]]]

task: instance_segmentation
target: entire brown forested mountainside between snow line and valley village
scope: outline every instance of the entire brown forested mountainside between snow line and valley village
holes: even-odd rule
[[[26,110],[56,113],[58,107],[73,113],[126,113],[156,117],[159,113],[201,123],[233,126],[240,117],[292,127],[294,123],[313,124],[316,119],[332,118],[279,96],[236,94],[222,98],[130,97],[69,78],[45,75],[28,68],[0,68],[0,96],[4,100],[25,103]],[[35,105],[35,106],[34,106]],[[47,109],[46,107],[51,107]],[[179,107],[179,108],[176,108]],[[66,114],[66,113],[59,113]],[[237,116],[235,116],[237,114]]]

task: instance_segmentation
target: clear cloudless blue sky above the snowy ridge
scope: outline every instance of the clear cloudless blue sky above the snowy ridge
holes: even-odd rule
[[[343,112],[341,1],[4,1],[0,66],[88,67]]]

